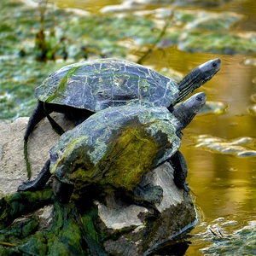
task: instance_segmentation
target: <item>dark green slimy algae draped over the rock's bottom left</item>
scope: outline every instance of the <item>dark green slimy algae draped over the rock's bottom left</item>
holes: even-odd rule
[[[36,192],[32,194],[38,195]],[[13,198],[14,201],[15,199],[19,202],[17,196]],[[38,230],[38,221],[32,215],[20,218],[8,229],[0,230],[0,253],[1,255],[13,255],[13,253],[90,255],[85,244],[85,241],[89,240],[93,241],[96,250],[101,251],[102,238],[94,230],[94,222],[92,222],[94,216],[96,216],[94,208],[81,215],[72,203],[61,204],[55,201],[54,220],[50,230]]]

